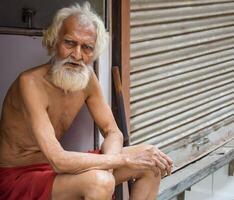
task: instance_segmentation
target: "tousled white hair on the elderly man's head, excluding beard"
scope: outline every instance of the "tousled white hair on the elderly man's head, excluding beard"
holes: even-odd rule
[[[92,23],[95,26],[97,38],[93,60],[97,59],[106,47],[108,34],[105,31],[103,21],[93,10],[91,10],[88,2],[85,2],[82,7],[76,3],[68,8],[58,10],[52,24],[44,32],[42,41],[43,46],[47,48],[49,55],[52,55],[55,52],[55,45],[57,43],[63,21],[72,15],[79,16],[79,23],[81,24]]]

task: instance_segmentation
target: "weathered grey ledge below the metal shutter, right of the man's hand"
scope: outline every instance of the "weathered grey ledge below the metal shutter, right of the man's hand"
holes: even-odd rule
[[[187,188],[234,160],[234,139],[200,160],[165,177],[157,200],[170,200]]]

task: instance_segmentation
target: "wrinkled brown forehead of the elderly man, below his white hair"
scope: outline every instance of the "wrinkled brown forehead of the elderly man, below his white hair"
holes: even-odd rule
[[[79,36],[91,42],[96,41],[96,26],[83,15],[72,15],[63,21],[60,36]]]

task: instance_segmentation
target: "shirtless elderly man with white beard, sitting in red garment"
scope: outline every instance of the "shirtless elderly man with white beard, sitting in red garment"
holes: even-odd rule
[[[105,34],[89,4],[59,10],[43,40],[51,62],[11,85],[0,126],[1,200],[110,200],[115,185],[131,178],[130,199],[155,199],[172,160],[149,145],[122,148],[91,67]],[[69,152],[59,143],[84,103],[104,136],[100,154]]]

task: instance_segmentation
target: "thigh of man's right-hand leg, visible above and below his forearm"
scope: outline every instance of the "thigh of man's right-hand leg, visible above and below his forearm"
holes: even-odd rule
[[[124,147],[123,153],[139,153],[146,148],[149,148],[149,145],[141,144]],[[122,182],[128,181],[129,179],[137,179],[144,173],[146,173],[146,170],[133,170],[128,167],[120,167],[114,170],[113,175],[115,177],[116,185],[118,185]]]

